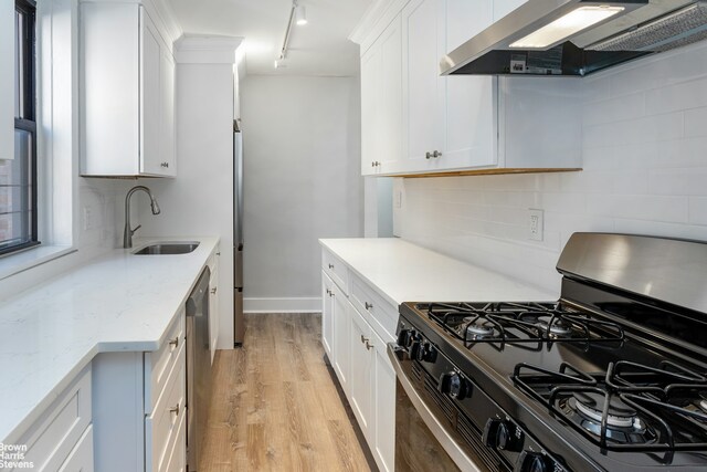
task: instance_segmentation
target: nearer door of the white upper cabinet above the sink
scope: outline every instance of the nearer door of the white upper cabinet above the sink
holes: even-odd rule
[[[161,174],[160,52],[159,32],[140,7],[140,172]]]

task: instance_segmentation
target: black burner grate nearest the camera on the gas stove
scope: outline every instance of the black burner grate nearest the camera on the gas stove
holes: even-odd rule
[[[707,449],[707,377],[675,363],[621,360],[598,375],[518,364],[513,380],[602,451],[662,452],[671,463],[676,451]]]

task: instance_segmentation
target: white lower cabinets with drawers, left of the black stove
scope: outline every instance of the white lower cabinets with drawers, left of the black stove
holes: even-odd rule
[[[389,322],[394,307],[352,272],[345,279],[350,282],[349,296],[325,271],[321,273],[321,344],[378,469],[392,472],[395,371],[387,343],[394,340],[394,325]]]

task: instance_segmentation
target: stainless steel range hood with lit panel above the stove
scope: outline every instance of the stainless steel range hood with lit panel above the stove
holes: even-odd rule
[[[445,55],[440,70],[584,76],[703,39],[707,0],[528,0]]]

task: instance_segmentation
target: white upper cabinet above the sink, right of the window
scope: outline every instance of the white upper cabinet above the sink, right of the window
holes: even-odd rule
[[[175,62],[143,4],[82,3],[81,172],[172,177]]]

